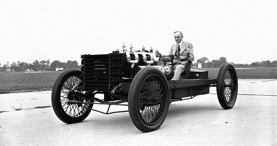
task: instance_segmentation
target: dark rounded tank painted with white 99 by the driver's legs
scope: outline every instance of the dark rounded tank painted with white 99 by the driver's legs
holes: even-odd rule
[[[135,76],[137,75],[138,71],[145,68],[145,67],[155,67],[158,68],[163,75],[165,76],[165,78],[167,78],[167,80],[171,80],[174,76],[174,70],[173,68],[171,68],[170,65],[162,65],[162,66],[147,66],[147,65],[143,65],[143,66],[134,66],[131,69],[131,78],[134,79]]]

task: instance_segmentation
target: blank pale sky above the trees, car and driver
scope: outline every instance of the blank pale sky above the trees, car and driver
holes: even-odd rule
[[[0,63],[77,60],[152,47],[168,54],[174,32],[195,62],[277,60],[277,1],[0,1]]]

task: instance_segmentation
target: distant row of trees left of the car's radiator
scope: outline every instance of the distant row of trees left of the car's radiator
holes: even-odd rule
[[[1,65],[1,63],[0,63]],[[57,66],[63,67],[64,69],[70,69],[70,68],[80,68],[81,65],[78,65],[78,62],[76,60],[71,61],[68,60],[67,62],[61,62],[59,60],[54,60],[50,63],[50,60],[34,60],[33,63],[26,63],[26,62],[7,62],[7,64],[4,64],[2,67],[0,67],[0,71],[6,71],[7,68],[11,68],[12,71],[26,71],[26,70],[34,70],[34,71],[54,71],[56,70]]]

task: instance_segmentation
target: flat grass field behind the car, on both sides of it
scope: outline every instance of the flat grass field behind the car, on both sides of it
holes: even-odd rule
[[[209,78],[216,79],[218,68],[208,70]],[[239,79],[277,79],[276,67],[237,68]],[[0,72],[0,94],[51,90],[62,71],[52,72]]]

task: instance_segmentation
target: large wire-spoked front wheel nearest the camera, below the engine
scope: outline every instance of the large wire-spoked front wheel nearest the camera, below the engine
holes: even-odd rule
[[[143,132],[158,129],[170,105],[168,81],[155,67],[141,69],[131,83],[128,109],[134,125]]]

